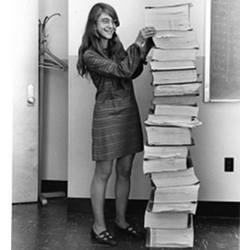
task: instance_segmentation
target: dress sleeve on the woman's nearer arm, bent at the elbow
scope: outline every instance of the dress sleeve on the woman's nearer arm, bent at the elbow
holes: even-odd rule
[[[89,71],[109,77],[132,78],[141,64],[141,48],[132,44],[126,52],[126,56],[119,63],[93,50],[87,50],[83,55],[83,60]]]

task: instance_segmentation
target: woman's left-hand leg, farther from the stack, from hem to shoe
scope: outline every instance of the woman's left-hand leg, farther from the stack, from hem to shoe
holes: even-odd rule
[[[94,231],[99,234],[106,230],[104,219],[104,199],[108,179],[112,173],[113,160],[97,161],[95,173],[91,183],[91,203],[94,214]]]

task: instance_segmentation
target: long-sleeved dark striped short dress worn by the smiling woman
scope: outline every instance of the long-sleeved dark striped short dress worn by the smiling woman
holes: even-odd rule
[[[123,49],[123,48],[122,48]],[[92,159],[112,160],[143,150],[140,115],[132,79],[143,69],[132,44],[120,59],[107,51],[85,51],[84,62],[97,89],[92,124]]]

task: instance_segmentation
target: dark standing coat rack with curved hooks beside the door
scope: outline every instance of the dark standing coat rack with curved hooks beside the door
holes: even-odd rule
[[[48,203],[48,198],[65,197],[66,193],[58,192],[41,192],[41,163],[42,163],[42,144],[43,144],[43,122],[44,122],[44,69],[66,71],[68,65],[62,59],[54,55],[48,48],[46,34],[46,24],[54,16],[61,16],[55,13],[46,16],[43,21],[39,19],[39,201],[42,205]]]

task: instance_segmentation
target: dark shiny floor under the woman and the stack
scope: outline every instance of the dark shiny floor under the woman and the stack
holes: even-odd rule
[[[13,205],[12,250],[101,250],[110,247],[90,242],[89,231],[93,222],[90,213],[69,211],[65,199],[50,200],[48,205]],[[113,215],[107,214],[112,231]],[[129,215],[128,219],[143,225],[143,215]],[[148,249],[143,240],[118,238],[112,249]],[[170,248],[161,248],[170,249]],[[195,218],[195,250],[239,249],[239,219]]]

